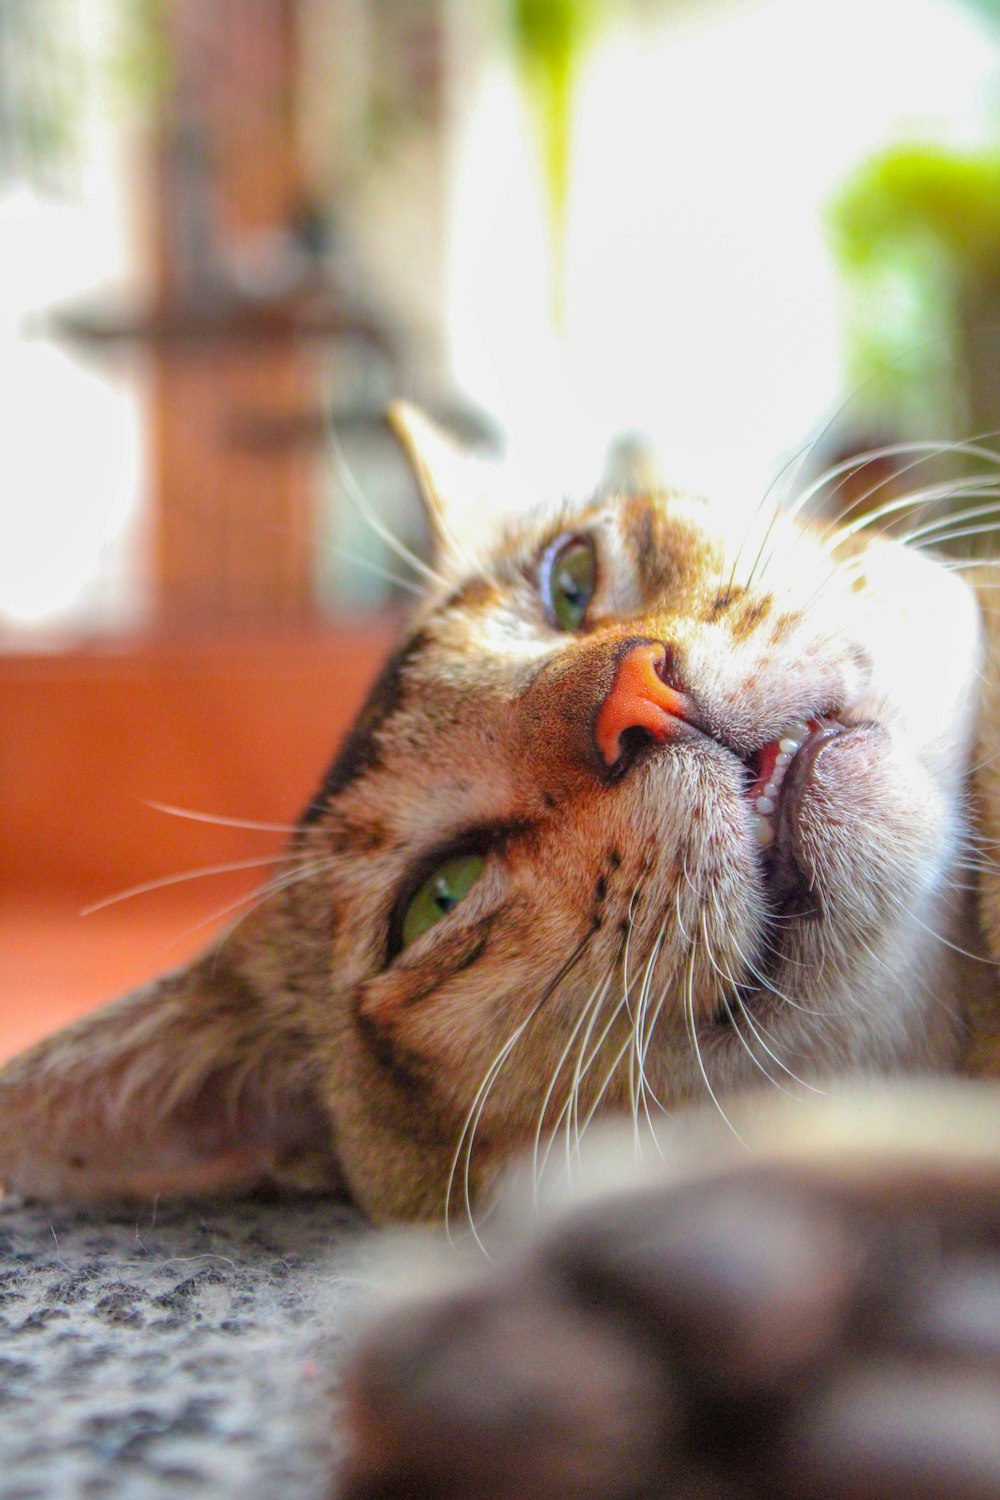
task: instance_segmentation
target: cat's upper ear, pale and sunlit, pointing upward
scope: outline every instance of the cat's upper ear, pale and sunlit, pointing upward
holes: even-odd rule
[[[417,480],[438,556],[474,560],[505,516],[526,508],[526,486],[510,465],[468,452],[409,402],[394,400],[385,418]]]

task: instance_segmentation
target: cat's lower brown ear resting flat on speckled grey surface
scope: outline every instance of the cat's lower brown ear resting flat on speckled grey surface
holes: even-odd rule
[[[0,1071],[0,1182],[75,1198],[337,1191],[315,1048],[210,954]]]

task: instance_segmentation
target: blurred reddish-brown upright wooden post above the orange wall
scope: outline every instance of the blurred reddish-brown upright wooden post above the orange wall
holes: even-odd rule
[[[159,144],[151,470],[166,624],[297,621],[313,608],[310,458],[253,444],[256,417],[315,405],[300,298],[274,310],[234,267],[261,264],[301,207],[295,0],[175,0],[175,80]],[[265,238],[270,237],[270,238]],[[268,296],[271,302],[268,303]],[[247,434],[250,436],[247,436]]]

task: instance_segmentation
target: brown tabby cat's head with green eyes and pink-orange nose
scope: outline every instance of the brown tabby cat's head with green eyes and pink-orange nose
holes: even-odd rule
[[[769,504],[514,514],[396,424],[438,530],[405,639],[252,918],[0,1076],[7,1184],[439,1216],[601,1112],[948,1058],[958,576]]]

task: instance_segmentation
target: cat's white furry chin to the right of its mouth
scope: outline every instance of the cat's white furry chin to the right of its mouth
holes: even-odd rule
[[[952,878],[963,832],[957,802],[885,730],[844,735],[820,756],[799,844],[823,927],[804,927],[799,958],[823,974],[838,1016],[831,1070],[955,1060],[963,956],[948,944],[967,940]]]

